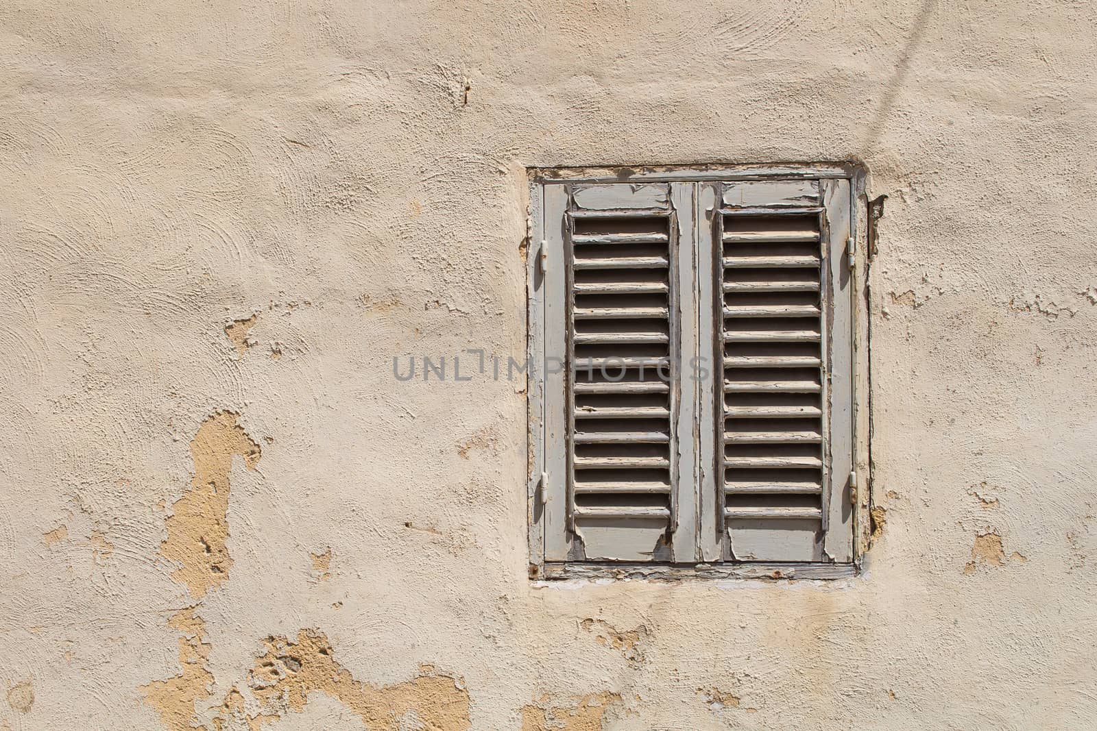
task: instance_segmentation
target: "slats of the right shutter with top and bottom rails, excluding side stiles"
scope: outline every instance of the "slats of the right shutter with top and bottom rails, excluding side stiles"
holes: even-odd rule
[[[715,217],[727,559],[824,558],[822,214],[817,181],[766,181],[725,184]]]

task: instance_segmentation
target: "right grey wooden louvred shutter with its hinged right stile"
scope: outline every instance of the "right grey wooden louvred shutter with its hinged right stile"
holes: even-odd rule
[[[849,561],[849,182],[719,187],[713,250],[724,558]]]

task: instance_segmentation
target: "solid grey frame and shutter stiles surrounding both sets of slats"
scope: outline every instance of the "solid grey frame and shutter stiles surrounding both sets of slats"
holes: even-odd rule
[[[623,174],[630,175],[627,183],[622,183]],[[677,317],[679,333],[679,353],[681,358],[678,369],[678,380],[681,385],[677,410],[671,413],[671,431],[682,435],[692,431],[692,438],[676,437],[671,461],[678,467],[677,479],[672,479],[677,491],[676,512],[678,530],[669,534],[670,552],[664,551],[658,557],[660,561],[700,566],[683,566],[679,570],[695,571],[698,575],[755,575],[757,571],[770,572],[765,575],[811,575],[814,578],[835,578],[850,575],[842,571],[857,571],[857,560],[863,546],[860,546],[860,533],[863,533],[863,516],[867,515],[866,504],[869,503],[867,480],[859,487],[856,498],[858,504],[851,504],[850,475],[863,471],[868,464],[868,445],[858,438],[866,432],[866,406],[863,396],[859,396],[867,379],[866,350],[859,346],[867,331],[867,320],[860,317],[860,297],[863,296],[864,284],[853,267],[853,258],[847,256],[847,241],[855,241],[863,224],[864,217],[864,175],[857,168],[840,165],[826,168],[802,165],[784,167],[740,167],[721,171],[719,169],[658,169],[641,171],[622,171],[618,173],[601,170],[595,173],[580,170],[557,169],[531,171],[531,195],[529,218],[528,275],[529,275],[529,342],[528,354],[530,364],[528,370],[529,388],[529,522],[531,576],[564,576],[580,575],[584,564],[590,571],[612,569],[637,559],[620,559],[613,556],[588,558],[577,547],[583,541],[576,541],[574,534],[567,530],[566,510],[561,510],[561,502],[568,499],[566,476],[561,479],[550,466],[559,465],[561,444],[566,439],[558,438],[561,429],[568,433],[567,410],[572,396],[563,399],[558,391],[554,395],[554,384],[567,380],[563,373],[551,373],[546,368],[545,358],[566,357],[567,335],[559,336],[558,297],[559,286],[555,284],[552,272],[567,271],[564,256],[566,249],[553,245],[553,239],[561,241],[567,238],[568,216],[563,215],[569,208],[576,218],[583,218],[586,212],[598,215],[600,212],[614,210],[619,205],[615,191],[625,187],[637,193],[633,196],[635,203],[631,206],[617,208],[625,214],[635,208],[656,207],[661,204],[658,196],[652,197],[653,185],[661,184],[669,192],[667,198],[674,208],[678,249],[676,262],[678,266],[670,272],[671,279],[677,284],[680,309],[671,307],[671,318]],[[725,202],[723,193],[735,191],[733,201]],[[783,191],[774,195],[774,191]],[[804,191],[818,191],[814,201],[811,194],[805,198]],[[576,197],[576,193],[579,193]],[[646,196],[646,198],[644,197]],[[857,196],[855,198],[855,196]],[[644,205],[640,205],[641,201]],[[722,275],[721,247],[717,229],[721,208],[734,203],[739,208],[803,208],[817,207],[823,209],[823,221],[819,230],[821,259],[824,259],[825,271],[821,272],[821,295],[825,300],[822,336],[826,344],[827,368],[824,374],[826,384],[823,409],[827,419],[826,452],[824,456],[825,481],[821,505],[825,510],[826,530],[821,530],[812,550],[798,556],[770,556],[758,561],[749,557],[735,557],[731,550],[732,541],[726,532],[720,529],[723,504],[717,505],[722,496],[723,452],[722,439],[717,443],[715,424],[723,415],[722,409],[715,408],[723,403],[722,381],[715,381],[715,373],[709,378],[695,380],[691,358],[700,358],[700,367],[704,367],[706,355],[715,356],[721,327],[717,324],[717,312],[723,315],[722,281],[720,287],[716,277]],[[814,204],[814,205],[813,205]],[[555,209],[555,210],[554,210]],[[636,212],[648,213],[645,210]],[[543,242],[543,245],[542,245]],[[544,267],[541,266],[541,252],[544,251]],[[857,260],[864,266],[861,247],[857,250]],[[691,263],[683,270],[683,264]],[[637,265],[654,265],[653,262]],[[852,269],[851,269],[852,267]],[[544,270],[547,270],[544,271]],[[692,286],[689,285],[692,279]],[[566,287],[566,285],[565,285]],[[858,288],[859,287],[859,288]],[[565,292],[565,295],[567,293]],[[552,300],[556,300],[555,302]],[[569,296],[565,296],[565,306]],[[844,310],[844,311],[842,311]],[[690,321],[692,320],[692,324]],[[554,324],[556,323],[556,324]],[[554,334],[552,331],[556,329]],[[789,332],[783,333],[789,335]],[[793,335],[795,333],[792,333]],[[692,340],[692,343],[690,342]],[[564,349],[561,349],[561,342]],[[719,343],[723,345],[723,343]],[[674,355],[672,355],[674,357]],[[558,364],[559,361],[556,361]],[[710,370],[715,370],[713,361],[708,361]],[[553,363],[550,361],[550,366]],[[558,368],[557,368],[558,370]],[[855,392],[856,390],[856,392]],[[719,414],[719,415],[717,415]],[[563,424],[563,427],[561,426]],[[569,446],[564,446],[564,459]],[[565,466],[565,472],[569,473]],[[542,480],[542,475],[547,479]],[[556,504],[554,504],[556,503]],[[692,511],[692,515],[688,513]],[[855,541],[855,524],[859,532]],[[685,530],[685,526],[689,526]],[[559,528],[564,528],[561,530]],[[691,534],[689,533],[691,532]],[[863,541],[861,541],[863,542]],[[859,548],[860,547],[860,548]],[[606,552],[606,551],[603,551]],[[744,560],[746,559],[746,560]],[[638,559],[643,561],[644,559]],[[546,563],[547,562],[547,563]],[[817,571],[807,573],[811,567],[821,564],[834,566],[828,574]],[[553,568],[555,566],[555,568]],[[601,569],[599,568],[601,566]],[[642,564],[637,564],[638,567]],[[568,569],[568,567],[572,567]],[[705,567],[709,567],[705,569]],[[768,567],[768,568],[767,568]],[[806,568],[805,568],[806,567]],[[643,569],[646,572],[671,570],[672,567],[658,566]],[[596,574],[592,574],[596,575]],[[651,574],[657,575],[657,574]],[[668,574],[669,575],[669,574]]]

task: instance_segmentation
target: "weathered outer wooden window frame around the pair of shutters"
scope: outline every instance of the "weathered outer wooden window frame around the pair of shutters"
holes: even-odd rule
[[[726,183],[738,181],[784,181],[784,180],[846,180],[850,191],[850,238],[852,252],[851,284],[851,347],[852,347],[852,480],[848,495],[852,499],[851,519],[851,560],[844,563],[835,562],[724,562],[711,550],[702,551],[702,560],[682,564],[660,563],[627,563],[627,562],[587,562],[587,561],[547,561],[545,560],[545,504],[552,500],[546,494],[545,445],[550,438],[564,438],[566,435],[555,435],[555,431],[565,425],[553,425],[545,422],[545,342],[544,320],[555,317],[553,298],[545,297],[544,273],[559,271],[563,267],[563,252],[551,251],[543,244],[546,239],[544,212],[545,195],[555,192],[559,194],[562,184],[614,184],[614,183],[698,183],[697,207],[700,207],[701,191],[711,187],[704,183]],[[869,477],[869,411],[868,411],[868,318],[863,302],[867,301],[868,283],[868,219],[866,197],[867,173],[857,164],[848,163],[778,163],[778,164],[745,164],[745,165],[685,165],[685,167],[598,167],[598,168],[531,168],[528,170],[529,208],[527,218],[527,333],[528,333],[528,524],[529,524],[529,573],[533,579],[561,579],[572,576],[652,576],[678,578],[686,575],[704,578],[768,578],[768,579],[836,579],[856,574],[861,564],[864,549],[868,546],[869,510],[871,493],[868,488]],[[711,204],[712,202],[710,202]],[[700,219],[698,215],[694,218]],[[705,226],[703,220],[690,225]],[[694,277],[702,276],[702,267],[698,261],[692,263]],[[703,297],[702,287],[695,287],[692,296]],[[559,307],[559,294],[556,293],[556,307]],[[566,298],[566,289],[563,293]],[[547,307],[547,309],[546,309]],[[555,346],[553,344],[552,346]],[[565,426],[566,427],[566,426]],[[715,435],[713,435],[714,437]],[[693,455],[693,459],[697,455]],[[688,478],[687,478],[688,479]],[[694,490],[703,489],[694,480],[690,486]],[[719,490],[716,493],[719,494]],[[714,511],[705,511],[714,513]],[[566,526],[564,526],[566,528]],[[702,529],[708,529],[702,525]],[[702,541],[703,542],[703,541]],[[716,541],[720,542],[719,540]],[[712,559],[706,562],[705,559]]]

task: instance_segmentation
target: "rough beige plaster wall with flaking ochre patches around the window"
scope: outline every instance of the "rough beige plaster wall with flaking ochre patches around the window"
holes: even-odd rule
[[[1097,727],[1089,3],[11,0],[0,58],[0,729]],[[866,570],[531,582],[524,384],[392,357],[521,357],[527,167],[812,160],[887,196]]]

